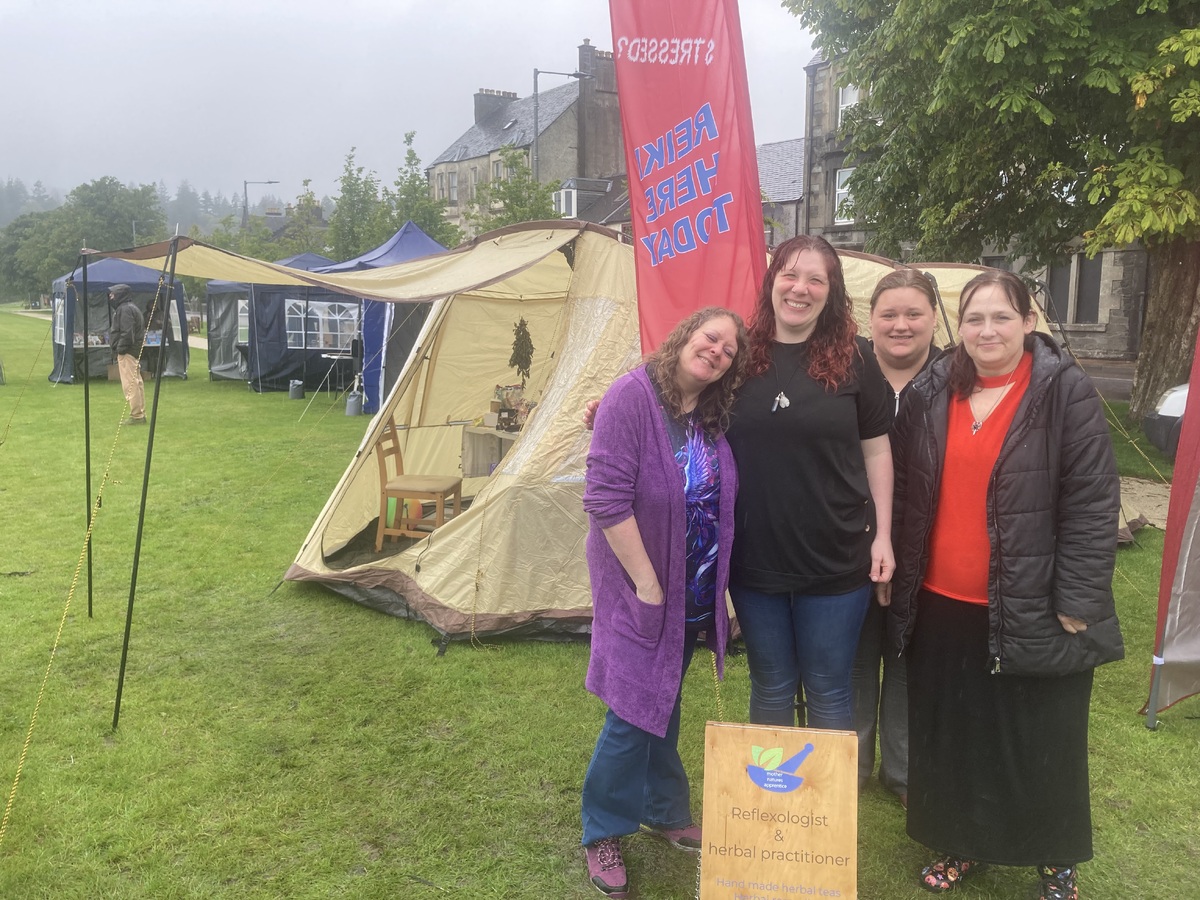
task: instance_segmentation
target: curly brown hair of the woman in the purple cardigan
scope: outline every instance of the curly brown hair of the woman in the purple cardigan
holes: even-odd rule
[[[724,306],[706,306],[685,318],[674,330],[666,336],[654,353],[646,358],[646,371],[654,383],[659,385],[662,394],[662,402],[667,410],[677,419],[684,418],[683,391],[676,380],[676,367],[679,365],[679,354],[686,346],[691,336],[713,319],[726,318],[733,323],[737,331],[737,352],[728,370],[715,383],[709,384],[700,392],[696,401],[695,415],[706,432],[716,437],[730,426],[730,409],[733,408],[733,394],[742,382],[745,380],[746,364],[749,362],[749,338],[742,317]]]

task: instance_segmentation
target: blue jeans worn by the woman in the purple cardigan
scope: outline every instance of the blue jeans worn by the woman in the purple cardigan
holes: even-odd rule
[[[696,649],[695,635],[684,637],[683,672]],[[611,709],[583,776],[583,845],[635,834],[644,823],[658,828],[691,824],[688,773],[679,758],[679,701],[683,679],[665,737],[630,725]]]

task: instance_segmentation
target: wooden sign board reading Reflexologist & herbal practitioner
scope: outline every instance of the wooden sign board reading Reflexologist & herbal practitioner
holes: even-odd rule
[[[701,900],[858,896],[858,738],[708,722]]]

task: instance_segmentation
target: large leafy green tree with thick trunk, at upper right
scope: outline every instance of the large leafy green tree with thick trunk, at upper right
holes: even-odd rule
[[[1140,241],[1130,412],[1187,379],[1200,323],[1200,2],[785,0],[842,83],[870,250],[1032,266]]]

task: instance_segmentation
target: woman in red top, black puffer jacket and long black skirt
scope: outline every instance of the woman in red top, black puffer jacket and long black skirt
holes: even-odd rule
[[[1124,654],[1112,601],[1120,482],[1091,380],[1034,334],[1025,284],[962,290],[955,350],[893,428],[889,630],[908,661],[908,834],[944,893],[1034,865],[1078,898],[1092,857],[1092,670]]]

